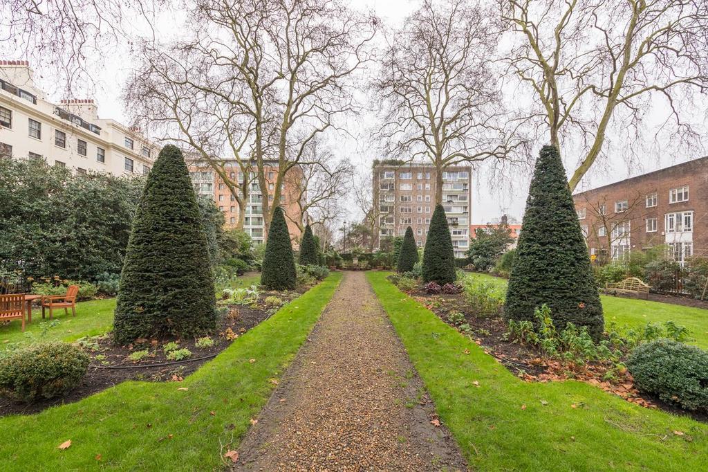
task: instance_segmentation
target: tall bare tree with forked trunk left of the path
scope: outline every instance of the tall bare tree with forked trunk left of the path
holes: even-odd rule
[[[244,94],[220,83],[189,85],[250,118],[249,153],[263,196],[266,168],[275,161],[273,200],[263,198],[267,231],[287,172],[336,117],[354,111],[350,76],[369,60],[377,21],[338,0],[195,0],[193,13],[193,38],[183,47],[218,77],[240,82]]]

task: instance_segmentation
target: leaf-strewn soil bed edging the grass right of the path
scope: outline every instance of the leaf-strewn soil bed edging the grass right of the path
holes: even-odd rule
[[[472,313],[462,294],[427,295],[416,291],[411,296],[433,311],[448,325],[459,329],[448,319],[450,313],[462,313],[472,328],[469,334],[486,354],[495,357],[503,366],[519,378],[528,382],[549,382],[573,379],[590,383],[603,390],[619,395],[631,403],[646,408],[661,408],[675,415],[685,415],[695,420],[708,422],[708,412],[682,410],[659,398],[640,392],[634,388],[632,376],[626,370],[618,372],[614,378],[605,380],[608,366],[600,362],[589,362],[586,366],[569,366],[543,355],[537,347],[515,342],[506,337],[508,327],[501,316],[485,318]]]

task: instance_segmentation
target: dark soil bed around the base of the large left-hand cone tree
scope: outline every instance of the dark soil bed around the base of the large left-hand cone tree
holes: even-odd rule
[[[182,381],[190,373],[199,369],[202,364],[229,347],[236,337],[275,313],[278,307],[265,306],[263,300],[266,297],[278,296],[284,303],[287,303],[300,296],[308,288],[288,292],[262,291],[258,295],[257,308],[227,305],[228,314],[223,317],[217,332],[212,333],[211,338],[214,340],[212,347],[197,347],[196,339],[138,339],[139,342],[128,346],[116,346],[113,344],[113,336],[110,333],[103,337],[91,338],[84,343],[85,349],[91,354],[91,364],[89,364],[89,371],[86,372],[86,376],[78,387],[62,398],[39,400],[30,404],[17,403],[0,397],[0,417],[15,414],[28,415],[40,412],[50,406],[73,403],[127,380]],[[179,347],[189,349],[192,355],[188,359],[178,362],[167,359],[163,346],[171,341],[178,341]],[[128,359],[127,356],[132,352],[144,349],[148,349],[148,356],[139,361]],[[151,366],[154,364],[169,365]]]

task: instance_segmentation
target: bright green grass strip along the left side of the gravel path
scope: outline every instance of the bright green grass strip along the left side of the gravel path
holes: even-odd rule
[[[181,383],[127,381],[37,415],[0,418],[2,468],[223,468],[219,451],[236,449],[340,280],[331,274]],[[67,439],[72,446],[57,449]]]

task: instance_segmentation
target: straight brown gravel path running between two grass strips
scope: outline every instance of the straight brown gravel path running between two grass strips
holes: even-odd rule
[[[465,470],[362,272],[346,272],[237,470]]]

